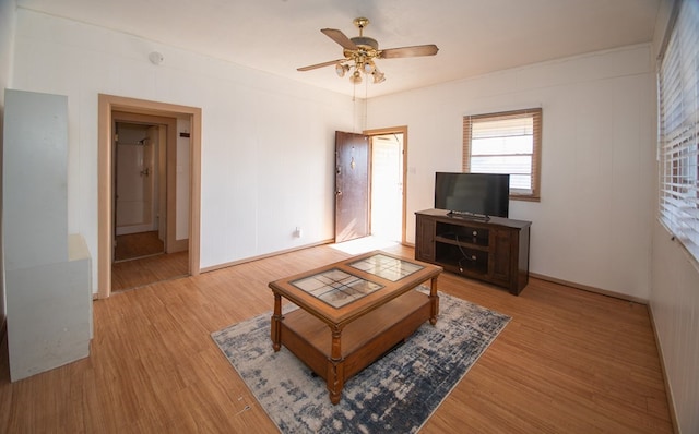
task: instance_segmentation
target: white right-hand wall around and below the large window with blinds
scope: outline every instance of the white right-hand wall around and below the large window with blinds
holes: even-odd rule
[[[654,52],[660,52],[672,5],[672,0],[662,2]],[[657,198],[654,206],[657,209]],[[667,391],[673,397],[679,432],[699,433],[699,264],[657,220],[653,225],[651,257],[650,309],[665,364]]]

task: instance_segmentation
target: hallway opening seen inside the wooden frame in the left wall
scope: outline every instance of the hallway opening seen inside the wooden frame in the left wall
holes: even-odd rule
[[[111,117],[115,131],[111,290],[185,277],[189,274],[187,239],[177,240],[174,232],[175,221],[188,218],[189,203],[173,206],[170,202],[176,198],[168,191],[190,185],[186,179],[189,170],[177,173],[174,180],[167,176],[171,166],[186,166],[189,160],[187,156],[169,156],[177,153],[176,142],[182,140],[176,134],[182,121],[120,111],[112,111]],[[168,215],[168,208],[174,215]]]

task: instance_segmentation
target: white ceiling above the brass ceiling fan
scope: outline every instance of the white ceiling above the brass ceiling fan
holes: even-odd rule
[[[436,44],[435,57],[377,61],[378,96],[491,71],[633,44],[653,37],[661,0],[16,0],[17,7],[137,35],[240,65],[352,95],[332,67],[342,58],[320,33],[364,35],[380,48]],[[167,49],[162,50],[167,64]],[[366,81],[365,81],[366,82]]]

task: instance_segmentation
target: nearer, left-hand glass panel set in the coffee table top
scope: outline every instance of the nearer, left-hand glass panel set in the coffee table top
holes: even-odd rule
[[[342,308],[383,288],[382,285],[331,268],[291,282],[333,308]]]

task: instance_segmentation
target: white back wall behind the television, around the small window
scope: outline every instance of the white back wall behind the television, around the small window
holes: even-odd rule
[[[370,128],[408,125],[408,240],[435,171],[461,170],[463,116],[542,107],[542,200],[510,202],[531,272],[648,300],[653,76],[642,45],[370,99]]]

